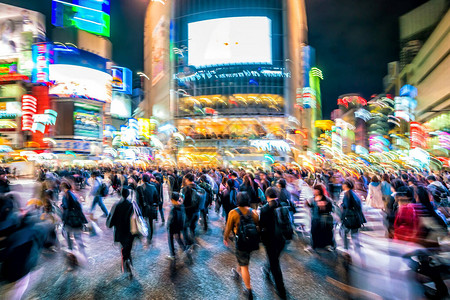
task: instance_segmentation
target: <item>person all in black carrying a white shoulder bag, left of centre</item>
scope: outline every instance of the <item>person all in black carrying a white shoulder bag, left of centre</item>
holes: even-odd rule
[[[122,272],[128,273],[130,279],[133,278],[133,261],[131,250],[135,236],[131,233],[131,215],[133,214],[133,204],[128,200],[130,190],[123,188],[122,198],[111,208],[111,214],[106,220],[109,228],[114,227],[114,242],[122,246]]]

